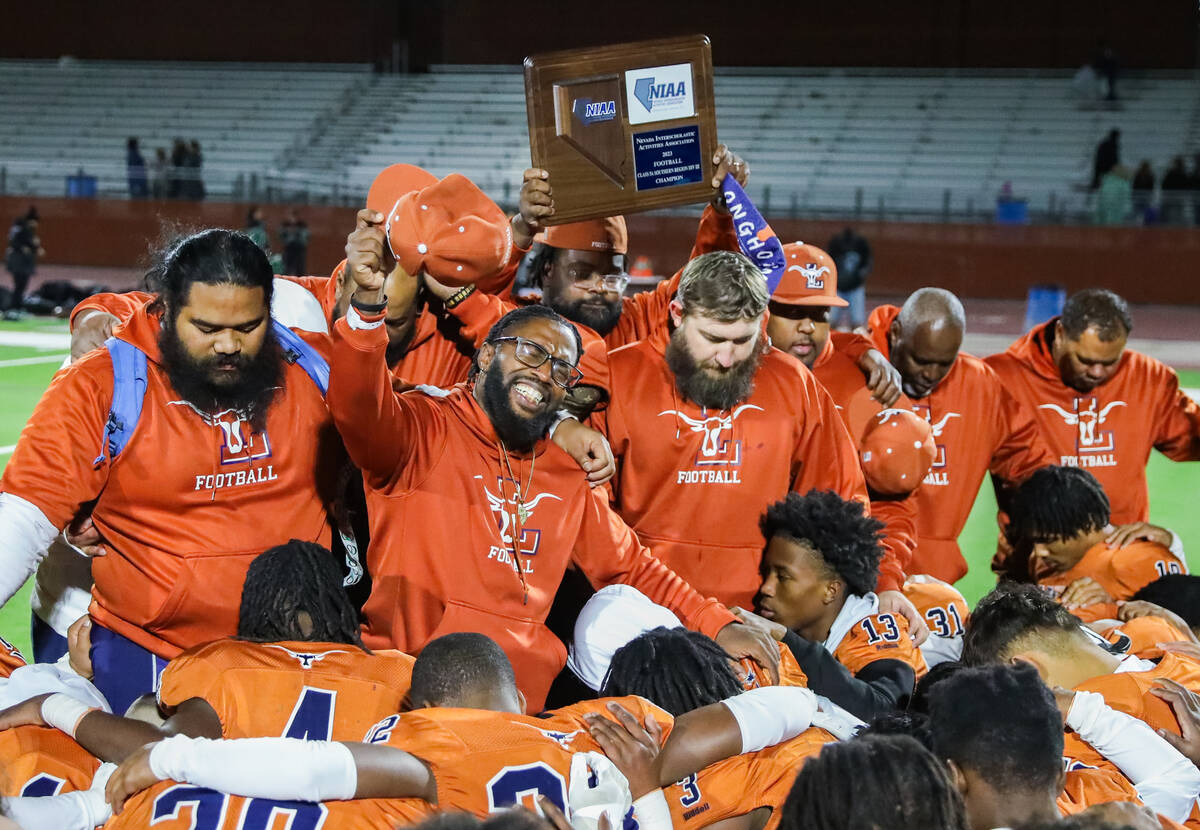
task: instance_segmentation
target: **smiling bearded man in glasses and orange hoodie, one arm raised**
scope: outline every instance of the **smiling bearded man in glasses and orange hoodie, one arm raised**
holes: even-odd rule
[[[536,712],[566,662],[545,621],[575,564],[593,585],[634,585],[731,655],[774,667],[774,643],[650,555],[607,494],[548,440],[566,391],[581,380],[578,332],[557,313],[528,306],[505,314],[467,384],[444,395],[392,391],[383,221],[361,211],[347,245],[358,288],[334,326],[329,389],[367,492],[374,582],[364,642],[416,654],[444,633],[486,631]]]

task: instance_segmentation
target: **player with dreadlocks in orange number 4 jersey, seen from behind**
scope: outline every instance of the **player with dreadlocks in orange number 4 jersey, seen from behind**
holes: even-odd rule
[[[188,649],[167,666],[158,691],[160,709],[167,715],[161,727],[89,710],[66,694],[43,694],[0,712],[0,729],[58,727],[114,763],[176,734],[359,740],[401,708],[412,669],[413,657],[372,652],[362,644],[334,555],[319,545],[292,540],[251,564],[238,637]],[[164,782],[142,793],[106,828],[157,825],[173,786]],[[218,793],[205,798],[229,814],[251,808],[242,799]],[[425,816],[428,805],[396,801],[377,810],[392,823],[407,824]],[[306,817],[302,810],[293,812],[296,822]]]

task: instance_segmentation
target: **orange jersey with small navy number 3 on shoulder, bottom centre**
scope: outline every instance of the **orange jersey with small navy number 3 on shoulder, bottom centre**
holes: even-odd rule
[[[689,775],[662,792],[672,825],[703,828],[721,819],[770,808],[764,830],[779,826],[780,812],[804,762],[838,740],[810,728],[796,738],[758,752],[733,756]]]

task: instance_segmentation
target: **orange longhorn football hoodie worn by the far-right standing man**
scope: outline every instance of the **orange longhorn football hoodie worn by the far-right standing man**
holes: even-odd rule
[[[1062,381],[1054,360],[1056,323],[1036,326],[1003,354],[988,357],[988,365],[1032,413],[1055,463],[1087,468],[1099,480],[1112,523],[1145,522],[1150,451],[1174,461],[1200,459],[1200,407],[1180,390],[1174,369],[1133,349],[1124,350],[1106,383],[1076,392]]]

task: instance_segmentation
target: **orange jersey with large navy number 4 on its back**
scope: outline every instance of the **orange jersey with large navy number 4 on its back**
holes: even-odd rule
[[[360,740],[403,708],[412,674],[413,658],[400,651],[223,639],[172,660],[158,700],[204,699],[224,738]]]

